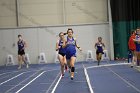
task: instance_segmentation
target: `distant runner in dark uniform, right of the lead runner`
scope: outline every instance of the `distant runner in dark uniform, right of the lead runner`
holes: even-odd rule
[[[102,42],[102,37],[98,37],[98,42],[95,43],[96,58],[98,61],[98,65],[100,65],[100,61],[102,59],[102,54],[104,54],[104,52],[103,52],[104,48],[105,48],[105,45]]]

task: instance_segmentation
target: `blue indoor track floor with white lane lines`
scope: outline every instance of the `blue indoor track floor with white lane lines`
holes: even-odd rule
[[[59,64],[0,67],[0,93],[140,93],[140,72],[128,63],[77,62],[74,80]]]

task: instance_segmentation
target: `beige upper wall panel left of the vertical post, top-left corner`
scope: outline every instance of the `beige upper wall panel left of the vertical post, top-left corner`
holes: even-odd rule
[[[16,27],[15,0],[0,0],[0,27]]]

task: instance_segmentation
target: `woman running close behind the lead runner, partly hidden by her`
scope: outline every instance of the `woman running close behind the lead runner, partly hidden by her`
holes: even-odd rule
[[[66,66],[66,50],[64,48],[64,45],[65,45],[64,33],[60,32],[59,33],[59,40],[56,43],[56,51],[59,51],[58,52],[58,59],[59,59],[59,62],[61,64],[62,77],[64,77],[64,66],[65,66],[65,69],[67,70],[67,66]]]

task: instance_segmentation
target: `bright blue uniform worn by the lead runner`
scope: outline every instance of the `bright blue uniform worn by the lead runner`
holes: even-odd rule
[[[74,38],[67,37],[66,59],[70,59],[72,56],[76,57],[76,41]]]

